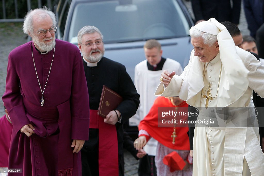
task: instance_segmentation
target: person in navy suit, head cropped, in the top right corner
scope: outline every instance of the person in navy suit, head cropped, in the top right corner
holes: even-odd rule
[[[256,31],[264,23],[264,3],[262,0],[243,0],[243,3],[250,35],[256,38]]]

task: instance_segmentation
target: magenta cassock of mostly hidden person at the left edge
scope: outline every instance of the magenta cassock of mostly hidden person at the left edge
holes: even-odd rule
[[[6,115],[0,118],[0,167],[7,167],[12,128]]]

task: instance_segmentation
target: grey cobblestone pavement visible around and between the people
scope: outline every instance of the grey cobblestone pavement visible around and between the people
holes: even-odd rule
[[[188,11],[192,13],[190,1],[183,0]],[[8,54],[15,47],[27,41],[26,35],[23,34],[22,23],[0,23],[0,95],[5,90],[6,68]],[[244,15],[243,4],[241,8],[240,23],[238,25],[243,35],[248,35],[247,22]],[[4,115],[3,102],[0,101],[0,116]],[[126,150],[124,150],[125,176],[137,176],[138,161]]]

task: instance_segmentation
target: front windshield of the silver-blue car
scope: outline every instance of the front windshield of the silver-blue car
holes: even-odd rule
[[[119,0],[78,3],[68,40],[77,43],[78,31],[96,26],[104,43],[170,39],[188,36],[189,24],[175,0]]]

